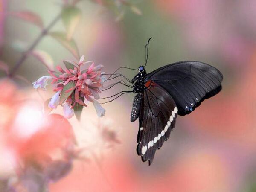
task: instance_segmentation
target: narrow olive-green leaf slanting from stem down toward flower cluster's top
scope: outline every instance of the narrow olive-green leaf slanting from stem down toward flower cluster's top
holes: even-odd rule
[[[63,32],[51,32],[49,33],[53,38],[59,41],[65,48],[67,48],[77,60],[79,60],[79,52],[76,46],[76,42],[73,39],[67,40],[67,35]]]

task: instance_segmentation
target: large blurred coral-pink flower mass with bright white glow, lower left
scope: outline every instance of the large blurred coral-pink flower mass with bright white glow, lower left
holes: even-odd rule
[[[3,166],[12,166],[6,174],[1,169],[1,176],[9,182],[2,188],[5,183],[0,180],[0,191],[47,189],[50,181],[70,172],[77,158],[72,155],[76,154],[72,126],[64,116],[41,113],[41,104],[26,99],[12,81],[1,80],[0,90],[4,90],[0,95],[0,152],[10,162]]]

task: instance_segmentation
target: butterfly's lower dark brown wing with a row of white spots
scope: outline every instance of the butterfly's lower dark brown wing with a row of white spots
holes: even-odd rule
[[[175,127],[178,109],[172,97],[153,81],[146,82],[140,106],[137,153],[152,163],[154,154]]]

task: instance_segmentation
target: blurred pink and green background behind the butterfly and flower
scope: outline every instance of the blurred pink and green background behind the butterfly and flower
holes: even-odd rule
[[[256,1],[73,1],[81,10],[72,32],[76,46],[46,35],[34,49],[39,56],[27,54],[7,78],[6,71],[70,2],[0,0],[0,191],[256,192]],[[50,29],[64,31],[61,20]],[[103,118],[92,105],[80,122],[63,119],[58,108],[38,127],[43,103],[53,94],[31,84],[48,75],[44,64],[76,60],[78,50],[87,61],[104,65],[106,73],[137,68],[144,64],[150,37],[147,72],[195,60],[224,75],[218,95],[177,118],[151,166],[136,153],[132,93],[104,105]],[[136,73],[120,72],[130,79]],[[121,90],[127,87],[101,96]]]

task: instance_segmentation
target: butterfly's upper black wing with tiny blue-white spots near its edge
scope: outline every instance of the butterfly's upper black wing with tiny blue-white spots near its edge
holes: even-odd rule
[[[163,87],[174,99],[178,114],[186,115],[221,90],[223,76],[208,64],[181,61],[148,73],[146,79]]]

